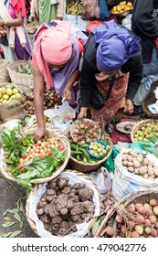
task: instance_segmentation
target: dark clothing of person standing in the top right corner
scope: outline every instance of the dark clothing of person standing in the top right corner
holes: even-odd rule
[[[153,9],[158,8],[158,0],[135,0],[132,10],[132,32],[141,37],[142,61],[150,63],[154,39],[158,37],[158,22],[153,18]]]

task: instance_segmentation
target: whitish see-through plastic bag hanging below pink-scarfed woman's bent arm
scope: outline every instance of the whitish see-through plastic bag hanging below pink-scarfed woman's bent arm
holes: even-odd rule
[[[76,116],[75,110],[69,106],[68,101],[64,101],[62,105],[55,106],[54,112],[57,116],[52,119],[52,123],[60,130],[66,131]]]

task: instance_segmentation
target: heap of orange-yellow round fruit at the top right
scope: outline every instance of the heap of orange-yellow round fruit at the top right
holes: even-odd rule
[[[127,16],[132,12],[132,2],[121,1],[119,5],[114,5],[111,9],[111,15]]]

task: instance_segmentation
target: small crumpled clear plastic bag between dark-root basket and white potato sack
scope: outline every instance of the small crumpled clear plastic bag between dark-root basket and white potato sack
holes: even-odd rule
[[[106,194],[111,191],[112,180],[106,168],[101,167],[98,172],[91,173],[91,176],[93,176],[95,183],[100,190],[100,194]]]

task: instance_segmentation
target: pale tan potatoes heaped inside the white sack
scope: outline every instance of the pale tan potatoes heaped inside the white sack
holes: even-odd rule
[[[158,166],[145,154],[136,153],[134,149],[122,155],[122,165],[134,175],[152,180],[158,177]]]

